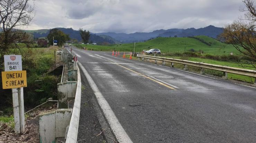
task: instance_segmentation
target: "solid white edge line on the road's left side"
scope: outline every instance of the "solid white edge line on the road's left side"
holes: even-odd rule
[[[77,62],[78,65],[80,66],[80,68],[82,69],[85,77],[87,78],[92,90],[94,91],[94,94],[98,100],[98,103],[106,117],[106,119],[108,120],[108,123],[110,125],[110,128],[112,129],[113,133],[115,134],[117,140],[120,143],[132,143],[130,137],[128,136],[128,134],[125,132],[124,128],[122,127],[122,125],[120,124],[120,122],[118,121],[115,113],[113,112],[113,110],[111,109],[111,107],[109,106],[109,103],[107,102],[107,100],[102,96],[99,88],[97,87],[97,85],[94,83],[93,79],[91,78],[91,76],[89,75],[89,73],[86,71],[86,69],[83,67],[83,65],[79,62]]]

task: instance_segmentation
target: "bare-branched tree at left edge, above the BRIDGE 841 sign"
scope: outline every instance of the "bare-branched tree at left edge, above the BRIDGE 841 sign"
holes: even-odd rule
[[[30,44],[30,35],[21,29],[28,26],[35,16],[34,5],[29,0],[0,0],[0,67],[3,63],[3,55],[9,48],[19,48],[17,43]]]

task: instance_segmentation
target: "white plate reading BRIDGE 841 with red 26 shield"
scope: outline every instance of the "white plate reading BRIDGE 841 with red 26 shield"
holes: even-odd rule
[[[4,71],[22,70],[21,55],[4,55]]]

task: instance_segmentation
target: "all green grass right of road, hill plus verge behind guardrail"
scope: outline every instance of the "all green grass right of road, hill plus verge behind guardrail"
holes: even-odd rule
[[[159,37],[156,39],[152,39],[146,42],[139,42],[136,43],[135,51],[141,52],[142,50],[149,50],[151,48],[159,48],[163,54],[165,53],[175,53],[175,52],[184,52],[184,46],[186,41],[186,51],[189,51],[190,49],[195,50],[195,52],[203,51],[203,55],[210,54],[210,55],[229,55],[231,52],[234,53],[234,55],[239,54],[239,52],[235,49],[234,46],[227,45],[225,43],[221,43],[217,41],[216,39],[213,39],[208,36],[195,36],[196,38],[200,39],[201,41],[204,41],[205,43],[201,42],[200,40],[191,38],[191,37]],[[94,51],[112,51],[112,50],[119,50],[119,51],[133,51],[133,43],[128,44],[113,44],[108,46],[103,45],[85,45],[85,44],[73,44],[78,48],[87,47],[88,50],[94,50]],[[126,55],[128,58],[129,55]],[[167,56],[168,57],[168,56]],[[172,57],[180,59],[181,57]],[[223,61],[214,61],[212,59],[205,59],[205,58],[188,58],[189,61],[195,61],[195,62],[204,62],[209,64],[216,64],[216,65],[223,65],[223,66],[230,66],[230,67],[237,67],[237,68],[243,68],[239,66],[237,63],[234,62],[223,62]],[[176,64],[178,68],[182,68],[183,65]],[[198,72],[199,68],[190,67],[195,72]],[[254,68],[247,68],[247,69],[253,69]],[[221,72],[207,70],[208,74],[213,74],[216,76],[221,76]],[[241,75],[235,75],[235,74],[228,74],[229,79],[235,79],[239,81],[245,81],[247,83],[254,82],[254,78],[241,76]]]

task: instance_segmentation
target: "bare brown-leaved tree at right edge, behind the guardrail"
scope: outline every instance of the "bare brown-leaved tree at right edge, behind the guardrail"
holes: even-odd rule
[[[219,39],[233,45],[241,53],[244,63],[256,68],[256,5],[252,0],[244,0],[243,3],[240,11],[246,12],[244,17],[226,25]]]

